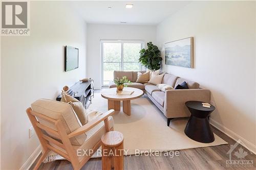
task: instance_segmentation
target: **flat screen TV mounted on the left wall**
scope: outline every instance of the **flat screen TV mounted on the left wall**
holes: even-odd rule
[[[65,71],[78,68],[78,48],[65,47]]]

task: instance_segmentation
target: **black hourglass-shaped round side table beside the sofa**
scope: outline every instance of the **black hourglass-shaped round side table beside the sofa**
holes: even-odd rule
[[[214,133],[210,129],[208,120],[209,114],[215,110],[214,106],[210,108],[203,107],[203,102],[188,101],[185,103],[186,107],[191,113],[191,116],[187,122],[184,130],[185,134],[193,140],[210,143],[215,140]]]

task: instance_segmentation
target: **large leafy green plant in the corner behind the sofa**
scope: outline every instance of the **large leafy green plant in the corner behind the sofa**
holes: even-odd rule
[[[140,50],[139,62],[147,69],[158,70],[160,69],[162,57],[161,52],[156,45],[152,42],[147,43],[147,49]]]

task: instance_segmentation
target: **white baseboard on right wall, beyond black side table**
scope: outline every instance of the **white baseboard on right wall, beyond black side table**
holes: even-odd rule
[[[242,143],[240,143],[240,144],[243,145],[243,147],[248,149],[250,152],[252,152],[253,154],[256,155],[256,145],[254,145],[253,143],[249,142],[248,140],[246,140],[245,138],[241,137],[240,135],[234,133],[233,131],[229,130],[225,126],[219,124],[218,122],[216,122],[212,118],[210,119],[210,124],[212,126],[214,126],[215,128],[217,128],[218,130],[220,130],[221,132],[223,132],[224,134],[226,134],[227,136],[229,136],[230,138],[232,138],[233,140],[237,141],[238,139],[241,139]]]

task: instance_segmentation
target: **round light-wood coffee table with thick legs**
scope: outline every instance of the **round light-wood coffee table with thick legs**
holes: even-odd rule
[[[143,91],[138,88],[124,87],[123,90],[134,91],[131,95],[118,94],[116,88],[105,89],[101,92],[102,98],[108,99],[108,109],[120,110],[120,101],[123,101],[123,112],[131,115],[131,100],[140,98]]]

